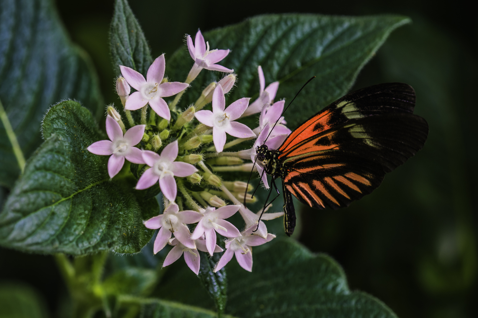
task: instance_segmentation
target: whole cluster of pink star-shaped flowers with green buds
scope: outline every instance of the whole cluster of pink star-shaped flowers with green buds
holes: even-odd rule
[[[132,173],[138,180],[137,190],[159,184],[164,211],[145,220],[144,226],[158,229],[154,254],[167,245],[173,246],[163,266],[184,255],[187,266],[198,274],[198,251],[202,251],[209,255],[222,253],[214,271],[224,267],[233,255],[241,267],[251,271],[252,246],[275,237],[268,233],[263,221],[280,217],[283,213],[263,213],[261,216],[262,211],[250,211],[241,202],[255,202],[249,193],[252,187],[243,181],[223,180],[221,176],[227,178],[228,172],[255,169],[262,175],[264,186],[269,188],[263,165],[256,162],[253,166],[244,160],[254,162],[256,149],[261,144],[277,149],[291,133],[281,117],[284,101],[274,103],[279,82],[265,87],[264,73],[258,66],[259,97],[253,103],[244,97],[226,105],[226,94],[234,87],[237,76],[234,70],[217,63],[230,51],[210,50],[201,31],[197,31],[194,43],[189,35],[186,42],[194,63],[185,82],[170,82],[164,77],[164,54],[154,60],[146,79],[136,70],[120,65],[121,76],[116,81],[116,91],[129,129],[126,130],[120,113],[109,106],[106,118],[109,140],[93,143],[87,149],[93,154],[110,156],[108,174],[111,178],[119,174],[126,159],[130,162],[129,169],[123,169],[124,173],[117,178]],[[176,105],[203,69],[228,74],[218,82],[206,85],[196,103],[178,111]],[[207,83],[198,85],[202,84]],[[135,90],[132,93],[131,87]],[[172,100],[167,99],[172,96]],[[210,108],[203,109],[209,107],[209,103]],[[136,110],[141,110],[141,114],[131,113]],[[239,122],[241,118],[257,113],[260,113],[258,127],[251,129]],[[140,123],[136,124],[138,120]],[[227,142],[227,135],[235,138],[231,140],[229,137]],[[243,142],[253,145],[247,150],[224,152]],[[242,232],[226,220],[237,212],[244,220]],[[218,241],[218,235],[224,237],[224,243]]]

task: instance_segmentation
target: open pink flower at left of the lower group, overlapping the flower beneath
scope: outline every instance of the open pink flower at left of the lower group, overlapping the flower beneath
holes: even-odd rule
[[[179,207],[174,202],[170,203],[163,214],[154,216],[144,222],[144,226],[151,229],[159,228],[158,235],[154,240],[153,252],[154,254],[161,251],[168,243],[171,235],[178,239],[181,244],[188,248],[196,248],[196,243],[191,239],[189,229],[185,224],[192,224],[198,222],[202,213],[192,210],[179,212]]]

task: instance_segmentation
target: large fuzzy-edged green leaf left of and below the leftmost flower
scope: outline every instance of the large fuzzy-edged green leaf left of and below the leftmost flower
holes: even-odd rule
[[[89,111],[73,101],[53,106],[43,137],[0,213],[0,244],[37,253],[139,252],[153,233],[142,220],[159,214],[158,202],[134,190],[133,177],[120,172],[110,181],[108,156],[86,150],[105,139]]]

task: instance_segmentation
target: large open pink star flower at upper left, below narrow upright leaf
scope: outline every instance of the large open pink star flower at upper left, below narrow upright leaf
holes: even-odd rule
[[[173,96],[184,91],[189,84],[181,82],[165,82],[161,84],[165,68],[164,54],[159,56],[148,69],[146,80],[141,73],[120,65],[121,74],[126,81],[138,92],[132,93],[126,100],[125,109],[134,111],[150,104],[155,113],[170,120],[171,113],[168,104],[162,97]]]

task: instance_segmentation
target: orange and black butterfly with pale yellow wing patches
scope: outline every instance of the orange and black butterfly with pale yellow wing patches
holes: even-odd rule
[[[428,123],[413,114],[414,107],[410,85],[373,85],[316,113],[277,150],[258,146],[256,160],[278,193],[275,179],[282,179],[285,233],[292,235],[295,227],[292,195],[317,209],[346,207],[422,149]]]

